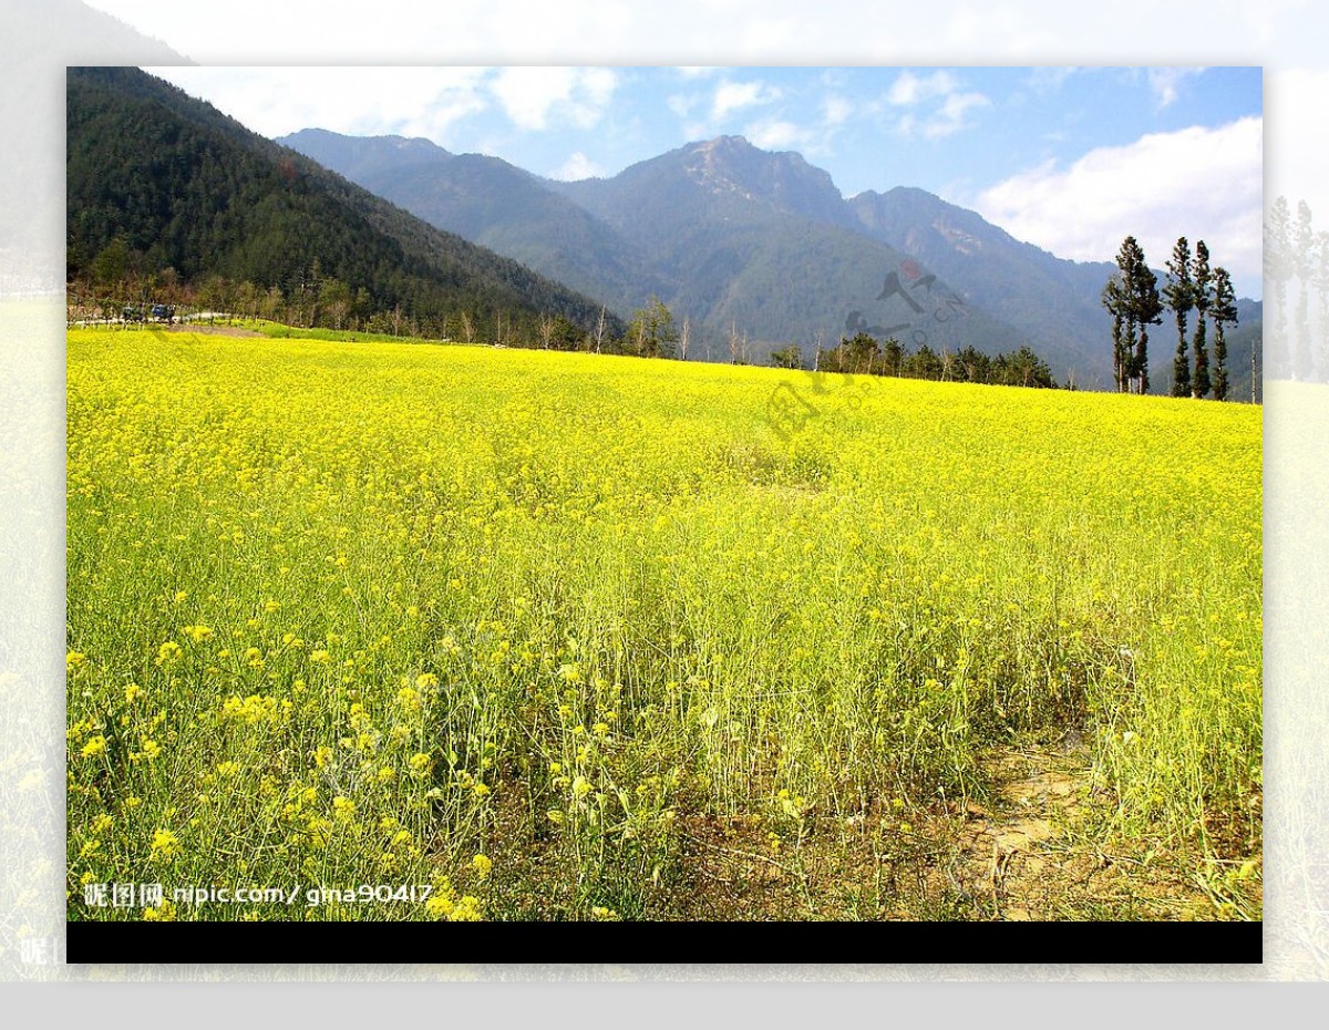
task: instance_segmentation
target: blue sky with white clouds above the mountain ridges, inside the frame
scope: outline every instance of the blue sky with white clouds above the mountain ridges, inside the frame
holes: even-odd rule
[[[264,136],[421,136],[556,178],[719,134],[918,186],[1059,257],[1205,239],[1260,295],[1259,68],[154,68]]]

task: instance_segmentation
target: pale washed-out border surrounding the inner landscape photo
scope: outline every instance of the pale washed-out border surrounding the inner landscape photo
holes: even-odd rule
[[[152,5],[145,0],[141,7],[149,12]],[[186,58],[215,64],[1260,64],[1267,69],[1267,201],[1281,193],[1293,209],[1305,199],[1321,218],[1329,213],[1318,203],[1329,170],[1318,101],[1329,92],[1317,89],[1329,85],[1329,62],[1322,54],[1329,15],[1300,0],[1276,0],[1259,11],[1227,0],[1177,3],[1163,11],[1151,3],[1126,0],[1090,13],[1042,1],[1015,7],[894,0],[863,5],[835,0],[809,7],[787,0],[683,0],[671,3],[664,12],[654,5],[567,0],[540,5],[544,13],[534,19],[526,12],[536,5],[508,0],[461,0],[428,9],[404,0],[194,0],[194,7],[217,12],[215,29],[198,40],[169,40],[175,48],[173,54],[166,45],[148,39],[154,28],[150,12],[140,24],[128,27],[90,12],[77,0],[0,0],[0,977],[15,981],[70,977],[64,966],[23,961],[24,940],[54,941],[64,926],[64,306],[58,291],[64,280],[66,64],[170,64]],[[283,27],[282,33],[264,29],[264,8],[278,7],[287,12],[272,19],[272,24]],[[290,8],[304,13],[296,32],[287,31]],[[1324,403],[1329,404],[1329,391]],[[311,1015],[324,1005],[348,1015],[361,1003],[372,1007],[387,997],[368,986],[350,993],[348,986],[330,982],[339,978],[582,981],[557,986],[490,983],[444,993],[423,985],[397,983],[392,989],[393,999],[428,1003],[425,1018],[484,1018],[486,1023],[486,1013],[497,1015],[494,1006],[510,1002],[540,1022],[546,1021],[546,1013],[552,1021],[571,1017],[586,1022],[606,1015],[615,1022],[663,1019],[666,1002],[698,1015],[715,1011],[714,1002],[727,1018],[751,1014],[760,1021],[760,1013],[769,1010],[799,1022],[824,1022],[835,1018],[840,1006],[848,1006],[847,1017],[853,1013],[855,1018],[894,1022],[958,1014],[952,1009],[956,1001],[961,1013],[985,1023],[1002,1022],[1005,1015],[1023,1022],[1031,1017],[1033,997],[1042,999],[1035,1003],[1041,1011],[1047,1011],[1046,1002],[1057,998],[1051,1011],[1059,1009],[1062,1021],[1079,1022],[1086,1014],[1091,1019],[1096,1014],[1120,1022],[1135,1021],[1148,1010],[1150,989],[1114,991],[1116,1002],[1108,1013],[1080,994],[1071,998],[1062,985],[1041,981],[1325,979],[1329,884],[1320,869],[1329,841],[1320,799],[1329,800],[1329,698],[1321,674],[1329,667],[1322,599],[1329,587],[1322,512],[1329,506],[1321,508],[1318,500],[1329,492],[1318,484],[1326,480],[1329,461],[1321,448],[1329,440],[1308,436],[1317,419],[1322,419],[1318,411],[1297,411],[1275,401],[1265,407],[1263,969],[457,964],[230,970],[121,966],[81,970],[77,976],[324,981],[318,993],[300,995],[312,1006]],[[954,932],[962,933],[964,928]],[[688,940],[687,934],[680,940]],[[520,938],[514,937],[514,945],[513,957],[524,957],[517,952]],[[27,957],[33,954],[29,945]],[[805,985],[791,990],[773,982],[760,987],[702,982],[684,989],[659,982],[731,978],[796,979]],[[587,979],[599,983],[587,989]],[[622,979],[646,982],[638,982],[630,993],[607,985]],[[809,982],[817,979],[841,981],[844,986]],[[896,983],[901,979],[932,983]],[[1017,982],[958,994],[936,986],[937,981],[954,979]],[[1033,994],[1030,981],[1038,982]],[[885,982],[892,982],[889,991],[882,990]],[[234,991],[239,985],[225,986],[226,995],[238,999]],[[90,990],[90,985],[69,983],[56,994],[41,991],[39,997],[43,1005],[77,1007],[92,1003]],[[262,998],[271,990],[255,985],[243,997]],[[1235,990],[1232,985],[1215,985],[1197,997],[1205,1007],[1213,1005],[1229,1017],[1239,1015],[1252,994]],[[155,1011],[178,1019],[183,1006],[191,1014],[209,1014],[209,1002],[195,991],[185,995],[181,986],[157,983],[145,990],[124,985],[118,997],[141,1005],[141,1018]],[[217,989],[206,989],[206,997],[215,998]],[[101,1002],[96,1003],[100,1007]],[[381,1021],[388,1015],[384,1009],[376,1011],[367,1018]],[[805,1018],[799,1018],[803,1014]],[[1200,1015],[1195,1010],[1192,1014]],[[678,1014],[670,1022],[686,1018],[686,1013]]]

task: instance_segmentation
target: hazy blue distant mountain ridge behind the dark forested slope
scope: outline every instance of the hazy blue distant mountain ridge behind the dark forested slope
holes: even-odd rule
[[[995,354],[1027,343],[1059,381],[1111,383],[1099,294],[1115,264],[1058,258],[920,189],[845,199],[800,154],[743,137],[575,182],[425,140],[307,129],[279,142],[623,316],[659,296],[692,322],[703,356],[723,359],[731,331],[750,334],[760,360],[764,347],[793,342],[807,352],[861,327],[893,331],[912,350],[971,343]],[[948,296],[960,303],[938,306]],[[1167,335],[1167,326],[1154,335],[1156,389],[1171,371]],[[1257,338],[1235,339],[1249,347]],[[1248,352],[1233,354],[1231,367],[1249,380]]]

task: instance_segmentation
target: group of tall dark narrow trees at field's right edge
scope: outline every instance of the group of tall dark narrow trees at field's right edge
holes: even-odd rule
[[[1211,267],[1209,249],[1196,241],[1195,254],[1185,237],[1172,247],[1167,283],[1162,292],[1158,276],[1144,259],[1135,237],[1122,241],[1118,271],[1103,287],[1103,307],[1112,316],[1112,376],[1123,393],[1148,393],[1148,327],[1163,323],[1171,310],[1176,319],[1176,358],[1172,360],[1174,397],[1228,399],[1227,326],[1237,324],[1232,276],[1223,266]],[[1193,334],[1188,331],[1195,312]],[[1213,326],[1213,356],[1209,356],[1208,326]],[[1252,351],[1252,361],[1255,361]],[[1251,375],[1255,381],[1255,369]],[[1253,400],[1253,397],[1252,397]]]

